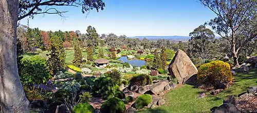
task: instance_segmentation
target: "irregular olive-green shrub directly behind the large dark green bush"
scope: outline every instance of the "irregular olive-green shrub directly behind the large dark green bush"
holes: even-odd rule
[[[111,78],[114,83],[120,85],[121,84],[121,75],[117,70],[113,70],[112,72],[107,72],[104,74],[105,77]]]

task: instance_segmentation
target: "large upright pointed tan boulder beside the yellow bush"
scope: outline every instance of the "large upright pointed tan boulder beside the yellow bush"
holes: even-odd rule
[[[188,55],[182,50],[177,50],[176,55],[169,64],[169,73],[175,76],[178,83],[185,83],[190,77],[197,74],[197,69]]]

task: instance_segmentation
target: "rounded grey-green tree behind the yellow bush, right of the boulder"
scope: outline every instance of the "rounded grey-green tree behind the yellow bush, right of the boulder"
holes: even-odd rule
[[[201,57],[205,63],[205,58],[213,56],[211,46],[215,37],[214,33],[204,25],[200,25],[189,33],[189,36],[191,36],[189,40],[189,47],[191,48],[188,49],[188,53],[192,53],[192,56],[196,58]]]

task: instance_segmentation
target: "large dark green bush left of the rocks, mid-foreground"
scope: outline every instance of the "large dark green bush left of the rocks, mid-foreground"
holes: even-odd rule
[[[95,80],[92,89],[95,97],[102,97],[103,99],[113,97],[114,94],[120,90],[119,85],[108,77],[101,77]]]

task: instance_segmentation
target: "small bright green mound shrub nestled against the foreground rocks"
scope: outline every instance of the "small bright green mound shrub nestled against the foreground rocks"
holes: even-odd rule
[[[140,95],[136,102],[136,109],[142,109],[144,106],[147,106],[150,102],[152,102],[152,96],[149,94]]]

